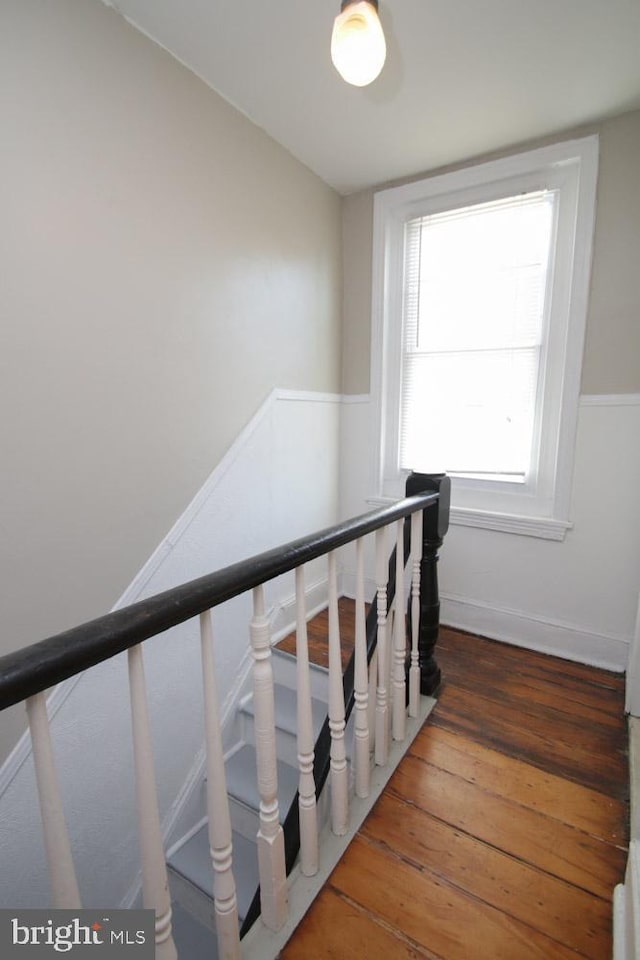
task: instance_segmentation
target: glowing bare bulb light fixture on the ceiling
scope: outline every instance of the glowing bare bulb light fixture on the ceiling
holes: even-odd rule
[[[342,79],[366,87],[382,70],[386,55],[378,0],[342,0],[331,35],[331,59]]]

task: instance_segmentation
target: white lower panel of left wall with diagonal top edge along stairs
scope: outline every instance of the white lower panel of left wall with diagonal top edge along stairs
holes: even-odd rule
[[[116,607],[335,523],[340,407],[338,395],[272,393]],[[315,580],[321,582],[324,576],[319,572]],[[269,615],[280,628],[285,627],[283,610],[291,609],[293,624],[293,607],[288,605],[293,577],[290,582],[279,578],[265,593]],[[315,604],[318,594],[313,590]],[[213,613],[223,723],[232,715],[249,662],[247,601],[238,598]],[[202,769],[199,660],[197,618],[145,644],[165,837]],[[62,684],[50,698],[62,801],[86,906],[130,906],[136,889],[139,859],[128,696],[126,657],[121,655]],[[0,906],[40,907],[48,902],[41,835],[25,737],[0,771]]]

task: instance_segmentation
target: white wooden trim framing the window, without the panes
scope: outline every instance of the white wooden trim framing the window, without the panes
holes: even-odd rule
[[[574,235],[573,264],[565,271],[565,284],[559,288],[564,298],[563,319],[554,323],[551,348],[559,357],[553,364],[556,395],[562,404],[555,418],[555,458],[547,470],[551,479],[547,488],[516,490],[516,485],[467,482],[453,483],[452,522],[464,526],[513,532],[525,536],[562,540],[571,527],[569,518],[573,460],[580,398],[580,376],[587,317],[595,192],[598,172],[598,137],[565,141],[527,153],[466,167],[453,173],[391,187],[374,197],[373,291],[371,384],[374,411],[374,480],[376,501],[394,499],[404,487],[406,471],[389,466],[389,450],[395,444],[397,427],[390,423],[392,397],[399,390],[399,350],[397,333],[392,334],[393,298],[398,296],[395,278],[402,276],[403,247],[399,237],[406,220],[447,208],[451,195],[465,202],[482,202],[503,196],[507,189],[546,187],[549,177],[555,182],[565,178],[565,196],[569,192],[570,223]],[[575,175],[577,174],[577,175]],[[574,176],[575,175],[575,176]],[[513,181],[510,185],[508,181]],[[573,191],[573,194],[571,193]],[[566,202],[566,201],[565,201]],[[559,336],[559,339],[555,339]],[[553,419],[553,417],[552,417]],[[389,437],[391,440],[389,441]],[[511,491],[507,492],[511,486]]]

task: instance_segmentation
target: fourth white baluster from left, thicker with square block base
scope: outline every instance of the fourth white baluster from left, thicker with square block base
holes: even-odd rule
[[[271,930],[279,930],[287,918],[287,877],[284,834],[280,826],[278,809],[271,637],[269,620],[265,615],[262,586],[255,587],[253,591],[250,635],[254,659],[253,699],[260,793],[260,827],[257,836],[260,901],[264,924]]]

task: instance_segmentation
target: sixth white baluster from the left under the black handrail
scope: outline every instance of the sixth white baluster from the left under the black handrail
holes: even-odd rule
[[[331,731],[331,829],[343,836],[349,826],[349,773],[345,748],[344,687],[340,656],[336,555],[329,561],[329,729]]]

